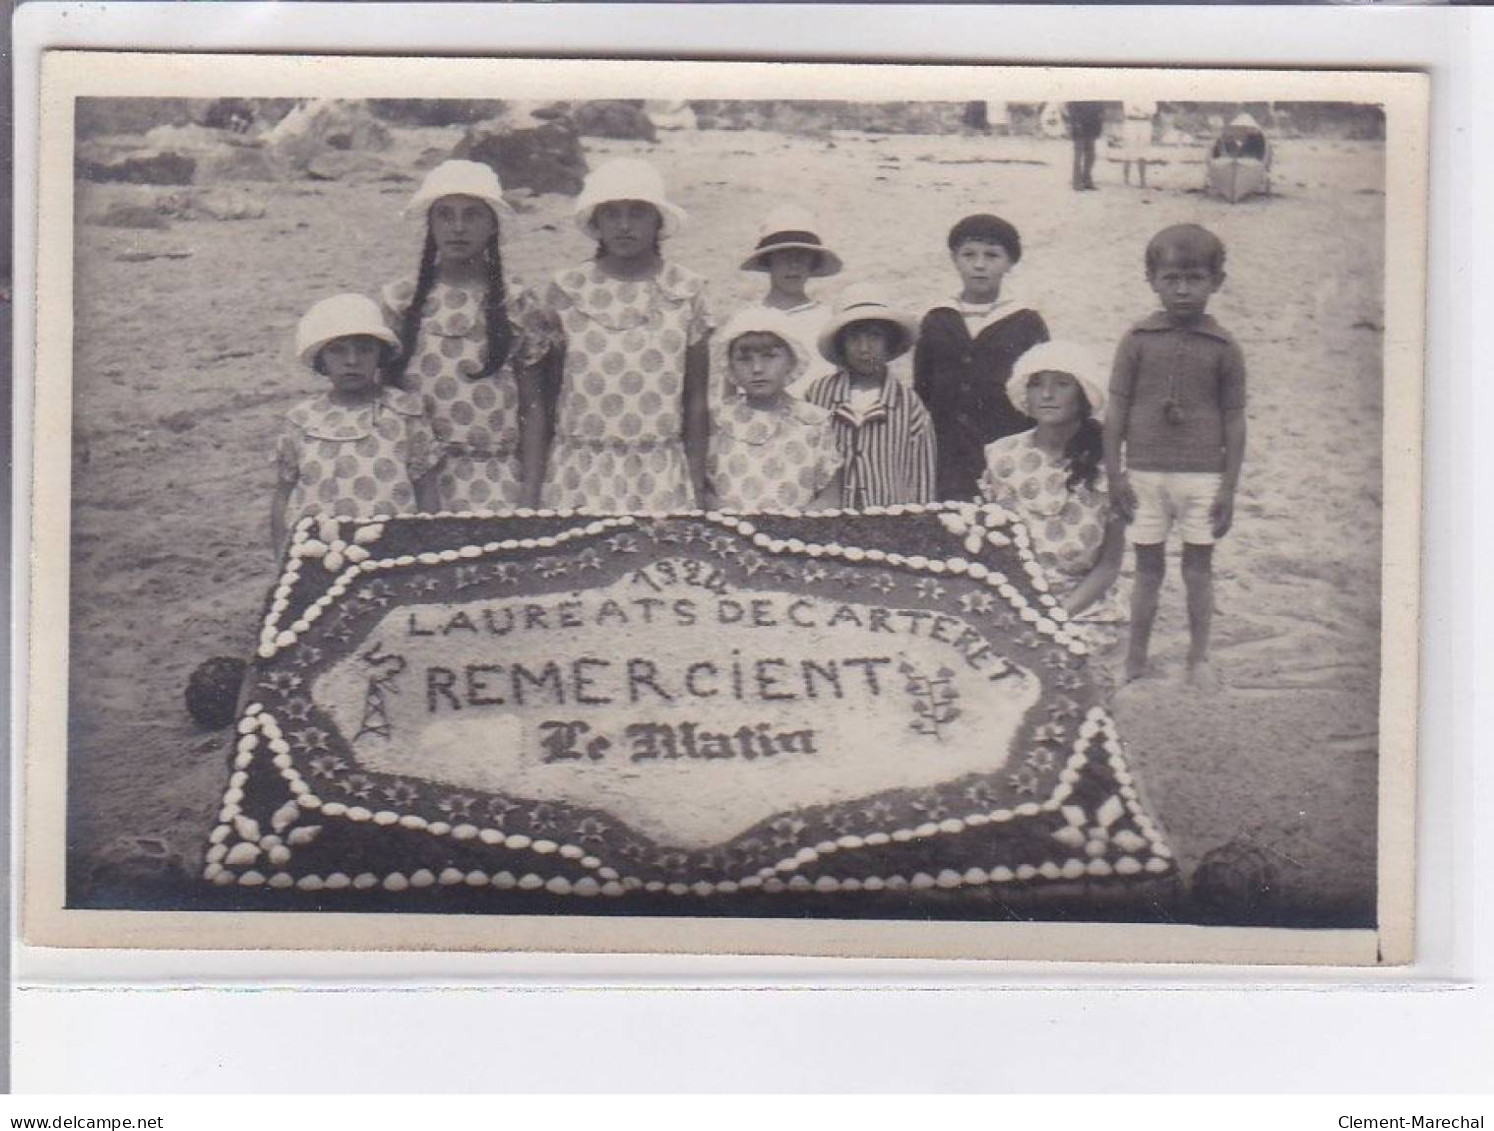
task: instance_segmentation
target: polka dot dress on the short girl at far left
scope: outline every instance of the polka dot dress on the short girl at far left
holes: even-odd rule
[[[275,460],[294,484],[287,521],[308,514],[414,514],[414,483],[439,459],[420,397],[385,388],[347,408],[326,393],[285,414]]]

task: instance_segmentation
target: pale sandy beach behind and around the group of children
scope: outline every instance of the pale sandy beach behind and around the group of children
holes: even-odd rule
[[[244,220],[102,226],[90,218],[117,202],[197,188],[78,185],[75,901],[120,837],[161,837],[188,871],[200,870],[226,740],[188,719],[182,690],[202,660],[254,647],[275,572],[273,438],[281,412],[318,388],[291,356],[294,323],[318,297],[372,294],[414,270],[423,233],[400,209],[462,128],[391,134],[393,148],[356,178],[209,187],[252,205]],[[690,212],[666,254],[711,279],[719,317],[760,296],[762,276],[737,264],[757,220],[784,200],[814,206],[847,261],[817,293],[877,279],[917,314],[958,282],[944,248],[950,224],[989,211],[1022,232],[1011,291],[1055,338],[1109,357],[1152,309],[1147,236],[1179,221],[1218,232],[1228,279],[1210,312],[1240,341],[1250,378],[1236,527],[1216,553],[1225,687],[1200,695],[1179,683],[1186,626],[1173,557],[1158,674],[1118,696],[1115,714],[1185,877],[1230,846],[1270,873],[1258,922],[1373,923],[1380,143],[1279,142],[1274,194],[1237,205],[1200,191],[1201,148],[1164,151],[1170,160],[1150,170],[1147,190],[1120,184],[1120,166],[1101,160],[1101,191],[1073,193],[1068,143],[1035,137],[743,130],[584,145],[593,166],[619,154],[660,164]],[[505,227],[511,278],[541,287],[589,257],[571,208],[563,196],[520,202]]]

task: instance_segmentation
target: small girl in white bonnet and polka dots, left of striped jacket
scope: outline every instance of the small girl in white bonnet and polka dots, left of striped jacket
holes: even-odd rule
[[[710,506],[732,511],[840,506],[841,456],[831,414],[787,391],[805,350],[774,311],[746,309],[722,332],[737,387],[716,412]]]

